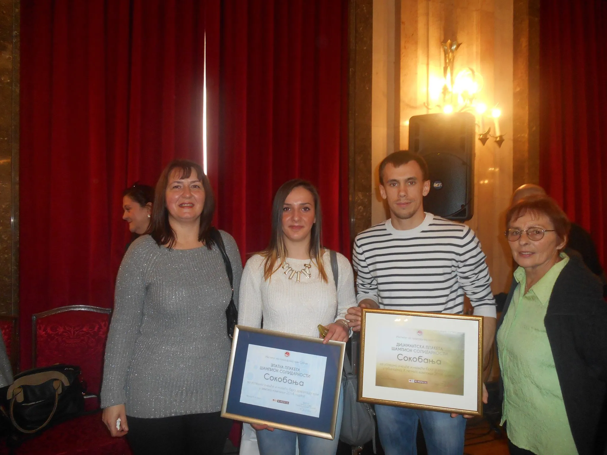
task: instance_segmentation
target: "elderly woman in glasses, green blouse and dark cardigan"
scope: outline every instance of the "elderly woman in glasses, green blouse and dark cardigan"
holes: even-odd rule
[[[549,197],[506,214],[518,264],[497,331],[510,454],[607,453],[607,303]]]

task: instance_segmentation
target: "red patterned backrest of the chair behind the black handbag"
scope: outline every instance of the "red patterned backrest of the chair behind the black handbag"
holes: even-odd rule
[[[32,315],[34,367],[78,365],[87,393],[99,394],[110,308],[72,305]]]

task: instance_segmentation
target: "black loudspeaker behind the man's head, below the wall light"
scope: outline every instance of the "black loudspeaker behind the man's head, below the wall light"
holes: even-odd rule
[[[456,221],[472,218],[475,133],[469,112],[410,118],[409,150],[424,157],[430,172],[426,212]]]

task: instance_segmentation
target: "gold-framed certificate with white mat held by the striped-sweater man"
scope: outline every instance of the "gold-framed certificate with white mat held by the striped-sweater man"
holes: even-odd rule
[[[362,309],[358,400],[483,414],[483,317]]]

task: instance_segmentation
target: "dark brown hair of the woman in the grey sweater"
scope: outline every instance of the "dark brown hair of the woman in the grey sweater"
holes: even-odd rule
[[[198,179],[202,182],[205,189],[205,205],[200,215],[200,227],[198,228],[198,241],[204,241],[206,248],[211,249],[213,241],[211,239],[211,223],[215,213],[215,197],[211,188],[211,182],[203,172],[200,164],[190,160],[173,160],[168,164],[160,174],[156,190],[154,192],[154,205],[152,206],[152,221],[146,234],[154,238],[158,246],[166,245],[173,248],[177,237],[175,231],[169,223],[169,211],[166,208],[166,187],[169,184],[169,177],[174,169],[181,170],[180,178],[188,178],[192,170],[196,172]]]

